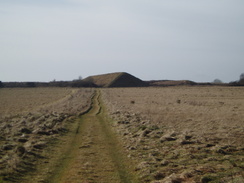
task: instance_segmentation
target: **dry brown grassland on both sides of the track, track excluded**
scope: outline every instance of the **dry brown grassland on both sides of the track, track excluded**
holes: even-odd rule
[[[18,182],[15,177],[32,169],[44,149],[52,149],[50,139],[90,106],[93,91],[1,89],[0,182]],[[244,181],[243,87],[101,91],[141,182]]]

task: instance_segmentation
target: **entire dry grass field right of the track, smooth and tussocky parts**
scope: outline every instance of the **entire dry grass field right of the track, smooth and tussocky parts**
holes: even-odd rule
[[[243,87],[102,91],[144,181],[244,181]]]

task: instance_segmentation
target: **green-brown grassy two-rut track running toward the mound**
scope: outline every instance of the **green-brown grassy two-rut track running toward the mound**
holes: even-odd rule
[[[69,132],[66,145],[59,148],[56,163],[41,182],[48,183],[129,183],[137,182],[130,163],[112,132],[96,91],[92,108]]]

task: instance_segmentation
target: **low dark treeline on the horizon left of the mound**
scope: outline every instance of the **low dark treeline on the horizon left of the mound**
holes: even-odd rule
[[[33,88],[33,87],[97,87],[94,83],[83,80],[52,82],[1,82],[1,88]]]

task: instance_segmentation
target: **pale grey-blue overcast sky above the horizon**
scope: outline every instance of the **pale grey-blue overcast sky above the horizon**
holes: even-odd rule
[[[0,80],[238,80],[244,0],[0,0]]]

